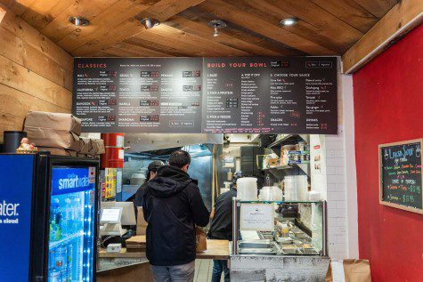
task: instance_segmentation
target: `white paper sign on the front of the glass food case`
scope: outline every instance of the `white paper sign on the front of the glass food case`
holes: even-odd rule
[[[240,230],[273,231],[273,204],[244,204],[240,206]]]

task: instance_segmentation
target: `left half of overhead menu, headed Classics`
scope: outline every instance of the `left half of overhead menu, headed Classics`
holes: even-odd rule
[[[77,58],[74,69],[85,132],[201,132],[201,58]]]

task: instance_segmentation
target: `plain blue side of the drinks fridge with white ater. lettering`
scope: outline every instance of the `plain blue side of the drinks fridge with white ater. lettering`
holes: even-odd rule
[[[0,281],[28,281],[35,155],[0,155]]]

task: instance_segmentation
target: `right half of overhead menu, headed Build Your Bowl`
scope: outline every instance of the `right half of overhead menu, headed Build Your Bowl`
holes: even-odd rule
[[[205,58],[205,133],[338,133],[337,59]]]

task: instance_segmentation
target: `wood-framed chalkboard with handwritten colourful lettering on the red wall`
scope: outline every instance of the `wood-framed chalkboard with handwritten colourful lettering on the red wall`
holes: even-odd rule
[[[380,204],[423,214],[423,139],[379,145]]]

